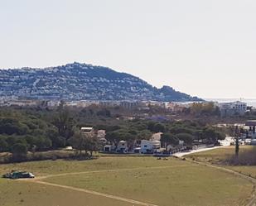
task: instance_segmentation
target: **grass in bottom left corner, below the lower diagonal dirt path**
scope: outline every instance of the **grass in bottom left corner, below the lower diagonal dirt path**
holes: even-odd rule
[[[138,206],[70,189],[0,179],[1,206]]]

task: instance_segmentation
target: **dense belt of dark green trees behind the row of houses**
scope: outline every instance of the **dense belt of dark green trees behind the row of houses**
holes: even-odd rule
[[[156,132],[163,133],[162,143],[174,146],[180,140],[191,146],[195,140],[214,144],[225,138],[224,132],[202,122],[125,120],[108,108],[68,109],[61,104],[60,108],[51,111],[44,108],[1,108],[0,152],[22,156],[27,151],[49,151],[70,145],[80,151],[99,150],[99,142],[81,137],[80,127],[85,126],[105,130],[108,141],[126,140],[130,145],[135,140],[150,139]]]

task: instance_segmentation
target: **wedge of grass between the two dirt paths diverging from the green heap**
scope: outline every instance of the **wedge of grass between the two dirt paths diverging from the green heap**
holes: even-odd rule
[[[184,163],[182,163],[183,165]],[[239,205],[252,185],[208,167],[112,171],[97,174],[52,177],[47,182],[91,189],[162,206]]]

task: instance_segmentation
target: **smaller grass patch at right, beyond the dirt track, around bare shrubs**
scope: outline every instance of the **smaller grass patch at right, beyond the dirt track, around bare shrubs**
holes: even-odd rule
[[[240,152],[251,149],[252,146],[240,146]],[[244,175],[250,175],[256,178],[256,166],[244,166],[244,165],[223,165],[223,162],[229,157],[234,155],[234,146],[221,147],[220,149],[202,151],[191,154],[187,157],[210,164],[222,165],[230,170],[237,171]]]

